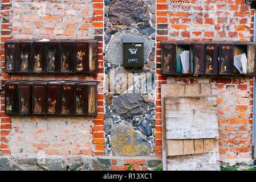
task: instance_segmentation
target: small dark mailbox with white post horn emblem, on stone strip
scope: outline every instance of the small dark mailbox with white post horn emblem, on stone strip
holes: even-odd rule
[[[123,66],[144,66],[144,40],[142,38],[123,38]]]

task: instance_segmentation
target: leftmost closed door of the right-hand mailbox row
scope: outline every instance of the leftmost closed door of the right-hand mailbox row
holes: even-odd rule
[[[161,72],[162,75],[176,73],[176,43],[161,43]]]

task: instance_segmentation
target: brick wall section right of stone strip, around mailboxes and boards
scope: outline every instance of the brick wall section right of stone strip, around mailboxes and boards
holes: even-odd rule
[[[234,164],[252,158],[253,77],[161,76],[161,40],[252,40],[253,11],[241,0],[192,0],[172,4],[157,0],[156,125],[161,126],[161,84],[210,83],[218,96],[220,159]],[[159,139],[161,151],[161,136]]]

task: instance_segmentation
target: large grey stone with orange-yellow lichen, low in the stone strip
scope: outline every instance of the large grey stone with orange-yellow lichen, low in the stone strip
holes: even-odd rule
[[[127,122],[112,123],[111,150],[114,156],[146,156],[153,147],[143,135]]]

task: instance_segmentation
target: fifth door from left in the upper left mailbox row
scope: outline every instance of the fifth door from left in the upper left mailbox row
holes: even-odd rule
[[[74,60],[74,44],[62,43],[61,72],[71,73]]]

